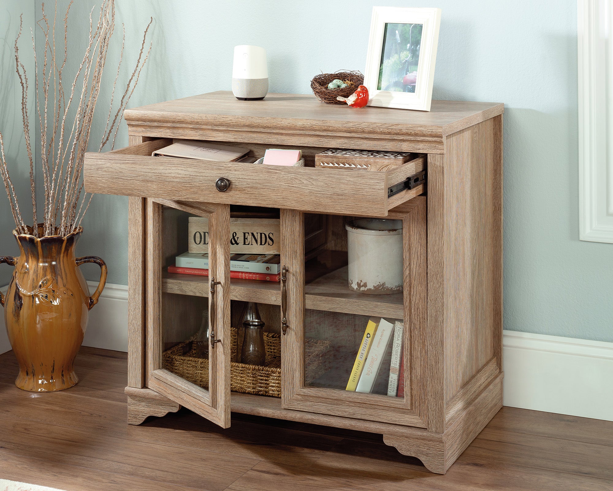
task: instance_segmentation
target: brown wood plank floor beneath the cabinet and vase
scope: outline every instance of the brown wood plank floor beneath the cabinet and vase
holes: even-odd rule
[[[126,354],[82,348],[80,382],[23,392],[0,355],[0,477],[73,490],[613,490],[613,423],[503,408],[444,476],[381,436],[186,409],[126,424]]]

